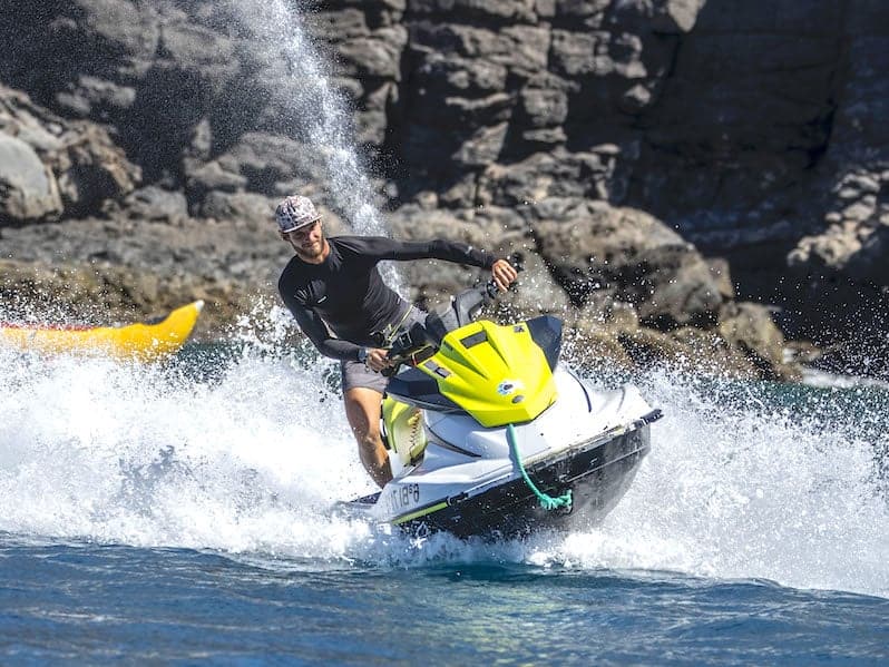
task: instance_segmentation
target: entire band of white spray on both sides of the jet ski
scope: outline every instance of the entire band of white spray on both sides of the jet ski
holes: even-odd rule
[[[3,355],[0,369],[0,531],[311,568],[494,559],[889,596],[875,467],[887,443],[857,437],[851,415],[794,420],[656,376],[646,393],[666,416],[603,526],[524,542],[418,541],[332,513],[372,485],[316,366],[248,350],[204,382],[97,360]]]

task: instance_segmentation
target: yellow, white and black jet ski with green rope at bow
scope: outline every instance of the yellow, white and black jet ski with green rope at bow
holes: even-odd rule
[[[394,341],[382,410],[393,478],[350,512],[496,539],[593,526],[626,492],[661,411],[560,363],[557,317],[476,320],[496,294],[467,290]]]

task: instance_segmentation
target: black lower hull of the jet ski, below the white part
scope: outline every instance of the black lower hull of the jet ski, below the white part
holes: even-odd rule
[[[517,479],[472,498],[449,498],[448,507],[400,526],[417,534],[443,530],[460,538],[489,539],[522,537],[540,529],[594,526],[629,488],[639,462],[651,449],[649,438],[648,424],[639,424],[604,443],[527,469],[545,493],[560,496],[570,489],[570,509],[544,510],[525,481]]]

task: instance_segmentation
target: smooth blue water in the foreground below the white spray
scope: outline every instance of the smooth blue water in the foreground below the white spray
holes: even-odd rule
[[[877,665],[889,643],[886,599],[768,581],[3,542],[4,664]]]

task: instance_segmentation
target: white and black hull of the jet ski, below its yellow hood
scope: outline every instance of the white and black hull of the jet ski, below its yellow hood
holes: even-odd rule
[[[633,385],[603,391],[561,366],[555,379],[558,400],[537,419],[515,424],[516,449],[540,491],[570,490],[569,507],[540,507],[514,461],[506,428],[430,411],[422,460],[393,470],[380,493],[349,503],[351,509],[411,532],[446,530],[463,538],[602,521],[633,481],[651,447],[649,424],[661,412]]]

